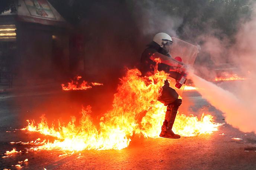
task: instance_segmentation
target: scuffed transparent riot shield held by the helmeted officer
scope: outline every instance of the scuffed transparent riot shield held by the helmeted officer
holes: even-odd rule
[[[170,52],[172,58],[179,56],[182,59],[183,63],[185,63],[186,65],[193,66],[196,56],[197,56],[197,53],[198,53],[197,47],[188,42],[185,42],[183,40],[175,38],[175,37],[172,37],[172,40],[173,40],[173,46],[172,46],[172,50]],[[177,72],[173,72],[173,73],[171,73],[171,76],[168,77],[168,79],[170,82],[170,87],[175,89],[176,92],[181,97],[186,83],[183,84],[180,89],[176,88],[175,87],[175,84],[176,84],[175,78],[177,76],[180,76],[180,74]]]

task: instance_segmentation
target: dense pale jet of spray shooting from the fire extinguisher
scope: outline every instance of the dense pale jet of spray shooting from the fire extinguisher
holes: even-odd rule
[[[226,91],[217,85],[202,79],[195,74],[189,74],[198,91],[207,99],[215,108],[224,112],[225,120],[233,127],[239,128],[244,132],[256,133],[256,114],[255,106],[250,105],[247,101],[240,100],[234,94]]]

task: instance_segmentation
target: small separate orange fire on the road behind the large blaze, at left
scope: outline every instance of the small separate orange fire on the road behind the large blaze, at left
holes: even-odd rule
[[[68,85],[65,86],[64,84],[61,84],[62,89],[65,91],[68,90],[87,90],[92,88],[92,86],[101,86],[103,85],[102,83],[96,83],[96,82],[92,82],[92,83],[88,83],[87,81],[83,81],[81,84],[79,84],[79,80],[81,79],[81,76],[77,76],[76,80],[71,80],[71,82],[68,82]]]

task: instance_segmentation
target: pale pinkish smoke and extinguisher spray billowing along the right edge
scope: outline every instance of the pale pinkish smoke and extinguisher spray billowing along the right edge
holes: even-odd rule
[[[204,41],[201,48],[209,54],[215,68],[221,63],[232,65],[231,67],[236,68],[236,73],[243,75],[246,80],[232,84],[227,82],[229,86],[228,91],[226,91],[194,74],[190,76],[199,88],[198,91],[201,95],[224,113],[228,124],[244,132],[256,133],[256,89],[254,88],[256,86],[254,81],[256,78],[255,7],[254,4],[250,20],[240,19],[233,40],[227,35],[222,36],[222,38],[212,36],[212,34],[198,36],[199,39]],[[212,79],[211,75],[215,75],[215,71],[208,69],[206,66],[199,68],[199,70],[202,69],[208,70],[207,73],[209,74],[202,75],[204,78]]]

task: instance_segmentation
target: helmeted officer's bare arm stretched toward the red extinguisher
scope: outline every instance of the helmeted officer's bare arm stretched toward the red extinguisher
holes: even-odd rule
[[[152,61],[155,61],[155,59],[159,58],[161,63],[164,63],[169,66],[176,66],[176,67],[182,67],[184,64],[182,62],[179,62],[171,57],[167,57],[159,52],[155,52],[150,56],[150,59]]]

